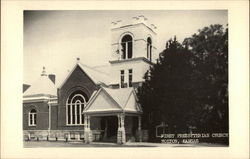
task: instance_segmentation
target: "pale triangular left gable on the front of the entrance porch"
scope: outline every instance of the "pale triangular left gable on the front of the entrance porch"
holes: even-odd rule
[[[105,91],[101,90],[90,105],[87,106],[85,112],[97,111],[120,111],[121,107],[108,95]]]

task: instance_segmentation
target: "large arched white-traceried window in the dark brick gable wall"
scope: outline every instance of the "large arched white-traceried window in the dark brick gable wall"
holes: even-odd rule
[[[67,125],[82,125],[84,117],[82,111],[87,103],[87,96],[82,91],[73,92],[66,103],[66,122]]]

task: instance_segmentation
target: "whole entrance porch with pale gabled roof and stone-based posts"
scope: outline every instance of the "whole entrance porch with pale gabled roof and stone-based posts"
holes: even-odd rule
[[[131,139],[136,136],[137,132],[138,141],[141,141],[142,109],[136,99],[133,88],[101,87],[95,92],[83,110],[85,142],[92,142],[97,132],[104,140],[116,136],[116,141],[113,142],[120,144],[128,141],[126,138]],[[97,128],[100,130],[94,130],[94,126],[91,126],[97,124],[95,118],[101,119],[99,121],[101,126]]]

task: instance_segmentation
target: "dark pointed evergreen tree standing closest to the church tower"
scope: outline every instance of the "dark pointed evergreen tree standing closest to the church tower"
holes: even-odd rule
[[[192,106],[191,53],[177,40],[169,40],[157,63],[145,74],[138,97],[151,139],[155,125],[164,122],[169,131],[186,131],[186,112]]]

